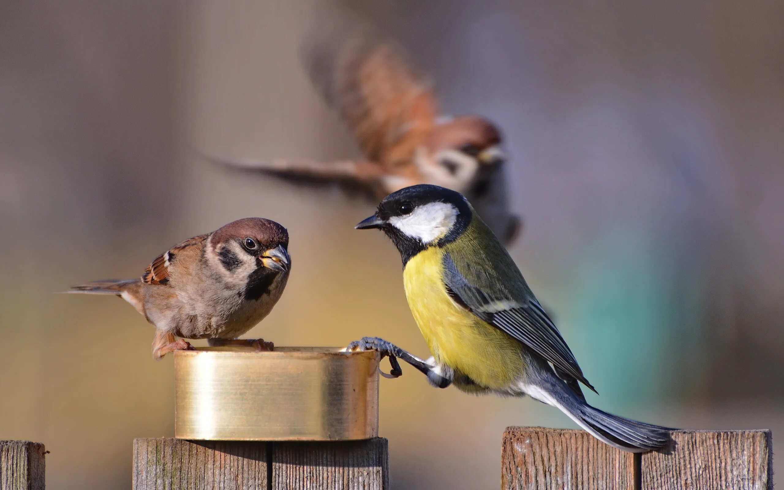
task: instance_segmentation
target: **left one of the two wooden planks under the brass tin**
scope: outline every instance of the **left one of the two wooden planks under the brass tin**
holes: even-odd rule
[[[134,490],[267,490],[266,442],[133,441]]]

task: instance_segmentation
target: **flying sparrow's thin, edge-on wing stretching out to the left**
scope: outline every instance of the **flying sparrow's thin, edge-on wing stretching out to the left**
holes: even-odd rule
[[[383,175],[379,165],[370,162],[341,160],[338,162],[319,162],[318,160],[289,160],[270,158],[255,160],[249,158],[225,158],[201,154],[202,157],[221,165],[237,169],[260,170],[279,176],[314,180],[347,180],[360,183],[373,183]]]

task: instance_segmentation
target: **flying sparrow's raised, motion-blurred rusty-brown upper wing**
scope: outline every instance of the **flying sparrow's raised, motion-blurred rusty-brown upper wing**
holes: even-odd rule
[[[333,19],[310,31],[303,60],[365,158],[388,171],[411,162],[434,127],[437,107],[430,82],[396,45],[368,27]]]

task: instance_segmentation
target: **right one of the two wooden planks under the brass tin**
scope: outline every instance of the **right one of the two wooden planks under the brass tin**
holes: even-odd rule
[[[387,439],[276,442],[273,490],[387,490]]]

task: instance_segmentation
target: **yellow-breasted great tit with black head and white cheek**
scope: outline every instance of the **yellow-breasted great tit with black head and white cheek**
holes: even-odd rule
[[[426,361],[386,340],[365,337],[350,350],[379,350],[423,372],[435,387],[528,395],[560,408],[608,445],[630,452],[662,448],[666,427],[603,412],[586,403],[572,350],[509,253],[456,191],[416,185],[381,201],[357,229],[383,230],[403,260],[408,306],[430,353]]]

